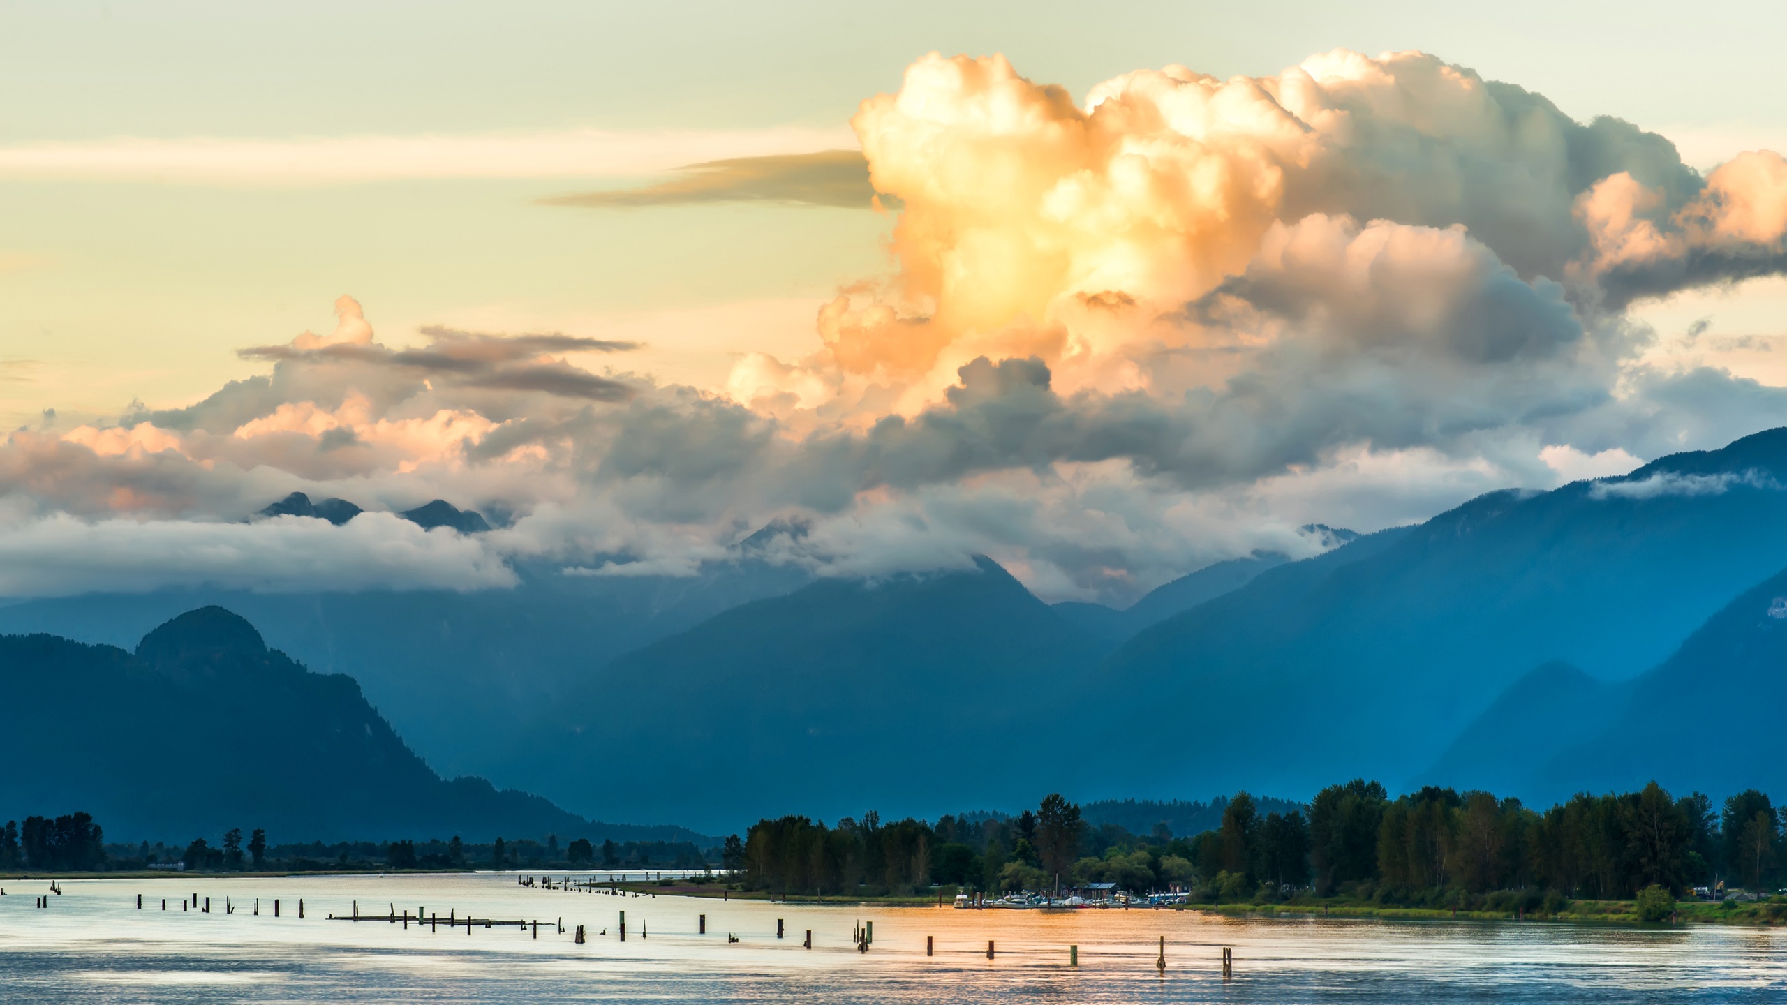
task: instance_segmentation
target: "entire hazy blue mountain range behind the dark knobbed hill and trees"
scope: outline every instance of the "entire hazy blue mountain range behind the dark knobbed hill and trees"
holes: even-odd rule
[[[688,578],[88,595],[0,608],[0,631],[123,644],[222,604],[356,678],[449,774],[718,833],[1049,790],[1301,799],[1353,776],[1719,796],[1787,789],[1766,724],[1721,715],[1787,687],[1783,483],[1771,429],[1415,526],[1321,528],[1313,558],[1192,570],[1128,610],[1044,604],[986,558],[815,579],[767,558],[758,536],[799,533],[770,526]]]

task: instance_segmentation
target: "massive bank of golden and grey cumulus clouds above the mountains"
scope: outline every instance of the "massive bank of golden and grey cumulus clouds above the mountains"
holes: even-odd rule
[[[1787,265],[1774,154],[1703,177],[1657,134],[1424,54],[1228,80],[1169,66],[1083,102],[1003,57],[929,55],[852,123],[861,156],[568,197],[888,193],[892,266],[815,304],[808,356],[745,352],[715,393],[588,368],[625,359],[622,340],[440,325],[391,345],[343,297],[332,333],[245,349],[264,376],[14,433],[0,506],[70,540],[141,531],[145,554],[172,540],[154,535],[218,535],[263,549],[268,581],[325,581],[332,556],[348,585],[402,562],[415,581],[499,583],[515,560],[684,576],[749,542],[851,576],[990,554],[1051,599],[1124,601],[1331,544],[1303,524],[1376,529],[1787,422],[1782,388],[1644,363],[1651,333],[1626,315]],[[220,522],[293,490],[377,517],[331,542],[434,497],[515,519],[477,542],[399,538],[411,551],[377,569]]]

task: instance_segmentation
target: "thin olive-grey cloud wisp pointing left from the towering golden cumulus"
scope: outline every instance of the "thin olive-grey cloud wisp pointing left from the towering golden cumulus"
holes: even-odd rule
[[[776,154],[686,165],[670,181],[645,188],[581,191],[541,198],[543,206],[625,209],[701,202],[788,202],[868,209],[876,198],[860,150]]]

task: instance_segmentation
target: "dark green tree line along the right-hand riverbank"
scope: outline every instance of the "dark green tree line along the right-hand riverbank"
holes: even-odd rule
[[[1147,835],[1090,826],[1060,794],[1017,815],[945,815],[935,824],[881,823],[868,812],[827,828],[786,815],[749,830],[738,866],[749,887],[795,894],[1117,883],[1208,903],[1338,896],[1481,907],[1490,892],[1517,891],[1530,908],[1548,898],[1630,899],[1648,887],[1680,896],[1717,883],[1758,891],[1787,880],[1787,808],[1758,790],[1714,808],[1705,794],[1674,798],[1653,781],[1533,810],[1478,790],[1426,787],[1390,798],[1378,781],[1353,780],[1301,807],[1271,805],[1281,810],[1262,812],[1251,794],[1237,792],[1222,803],[1219,826],[1188,837],[1165,824]]]

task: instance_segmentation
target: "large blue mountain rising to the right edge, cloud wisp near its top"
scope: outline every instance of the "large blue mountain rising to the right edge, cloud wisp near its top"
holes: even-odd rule
[[[1267,570],[1106,660],[1095,690],[1181,722],[1110,744],[1138,796],[1406,783],[1524,669],[1630,678],[1787,567],[1783,481],[1773,429]]]

